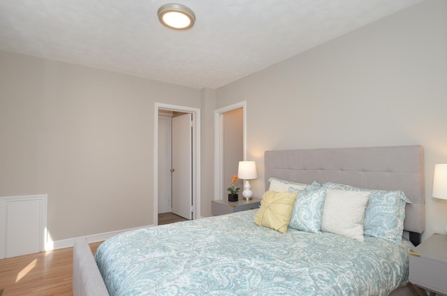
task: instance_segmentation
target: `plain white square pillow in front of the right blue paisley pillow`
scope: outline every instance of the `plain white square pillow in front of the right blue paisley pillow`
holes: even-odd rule
[[[321,230],[364,241],[363,221],[371,193],[366,191],[326,191]]]

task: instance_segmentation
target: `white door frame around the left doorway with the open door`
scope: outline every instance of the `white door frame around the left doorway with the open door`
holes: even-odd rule
[[[155,103],[154,108],[154,225],[159,225],[159,110],[191,113],[193,120],[193,220],[200,218],[200,109]]]

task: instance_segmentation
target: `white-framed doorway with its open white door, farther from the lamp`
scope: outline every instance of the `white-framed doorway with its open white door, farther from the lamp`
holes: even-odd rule
[[[177,121],[175,118],[179,119],[177,124],[175,124]],[[164,126],[168,126],[169,132],[161,129]],[[175,126],[180,126],[182,129],[176,132]],[[188,128],[189,135],[185,135]],[[179,136],[174,135],[175,133]],[[182,142],[175,142],[179,138]],[[189,140],[189,144],[185,144],[184,140]],[[198,219],[200,217],[200,110],[156,103],[154,143],[154,225],[159,224],[158,214],[169,210],[186,219]],[[177,149],[179,147],[182,148]],[[183,163],[180,166],[175,164],[176,150],[182,154],[178,156]],[[169,176],[172,177],[172,186],[170,178],[166,178],[166,172],[162,172],[161,168],[165,168],[169,173],[173,170],[172,175]]]

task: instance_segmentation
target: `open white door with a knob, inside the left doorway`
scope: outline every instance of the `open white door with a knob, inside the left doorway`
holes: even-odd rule
[[[192,116],[173,118],[173,213],[192,219]]]

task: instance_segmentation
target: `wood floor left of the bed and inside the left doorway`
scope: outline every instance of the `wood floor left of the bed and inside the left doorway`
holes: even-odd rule
[[[159,225],[185,221],[159,214]],[[90,244],[92,253],[101,242]],[[0,296],[73,296],[73,248],[0,259]]]

